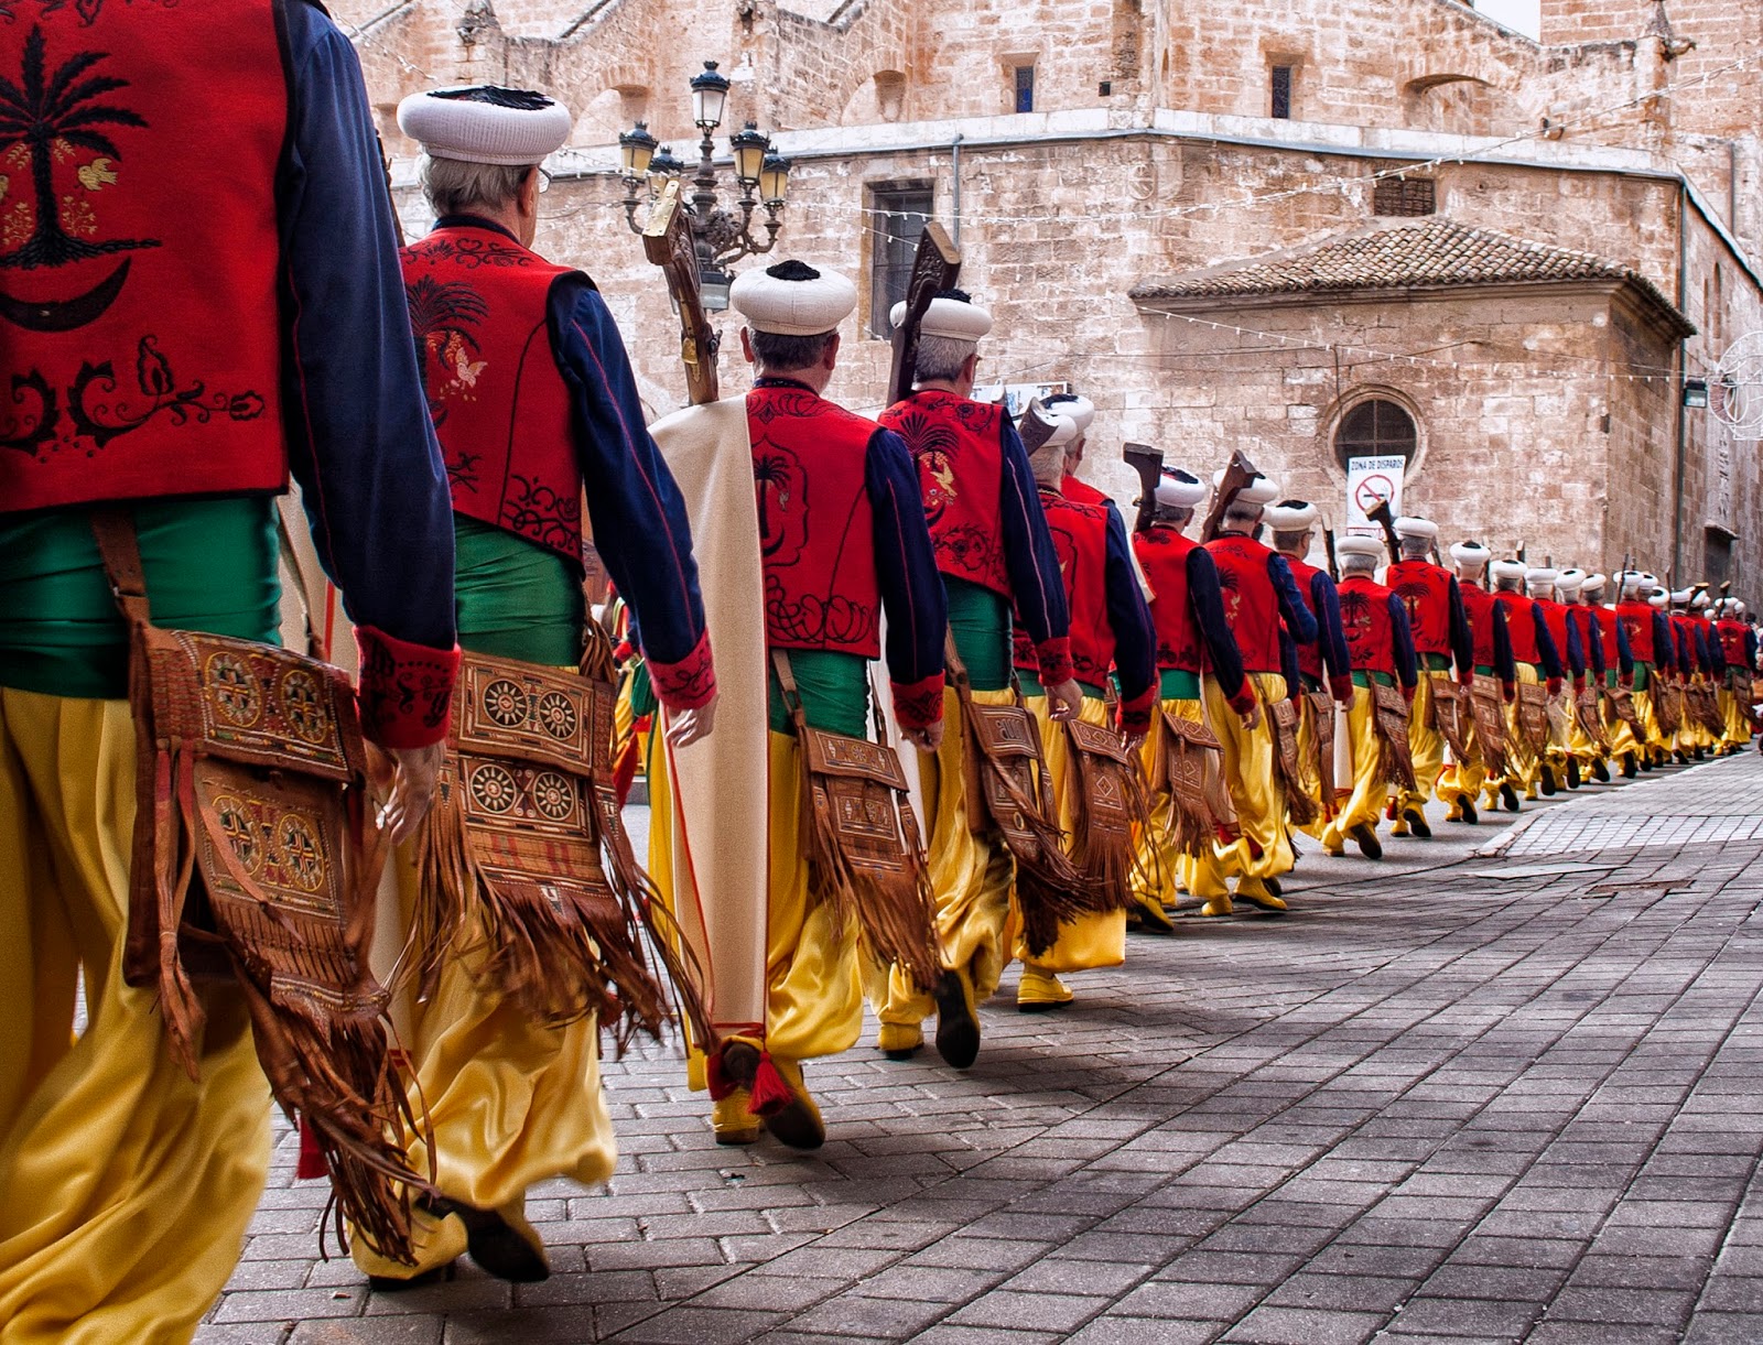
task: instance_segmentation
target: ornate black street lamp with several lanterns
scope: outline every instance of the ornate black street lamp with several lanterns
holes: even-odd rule
[[[726,104],[728,76],[716,69],[714,60],[707,60],[703,71],[691,78],[691,120],[702,137],[698,171],[691,180],[693,190],[689,197],[682,194],[681,203],[691,219],[691,238],[698,250],[703,307],[712,312],[728,307],[732,280],[728,268],[742,257],[770,252],[777,243],[785,196],[790,190],[790,160],[774,153],[770,137],[748,122],[728,137],[728,150],[735,160],[735,183],[740,189],[735,199],[737,210],[718,204],[716,166],[710,160],[716,153],[716,129],[723,123]],[[643,222],[636,219],[640,190],[647,183],[649,196],[658,196],[670,178],[686,171],[686,164],[675,159],[666,145],[658,145],[642,122],[619,136],[619,162],[624,175],[624,220],[631,226],[631,233],[642,233]],[[758,206],[765,206],[765,217],[760,220],[765,229],[763,240],[755,238],[753,231],[753,212]]]

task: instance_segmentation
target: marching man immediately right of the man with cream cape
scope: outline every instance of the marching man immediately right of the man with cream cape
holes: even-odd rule
[[[904,305],[894,323],[904,321]],[[978,705],[1008,705],[1010,610],[1035,649],[1035,672],[1054,719],[1077,714],[1082,691],[1072,679],[1072,647],[1060,559],[1040,509],[1035,474],[1015,425],[1003,407],[975,402],[978,342],[991,331],[986,308],[963,291],[931,300],[919,326],[913,393],[882,412],[919,467],[924,513],[936,568],[948,596],[948,633]],[[874,987],[882,1017],[878,1045],[904,1059],[924,1045],[919,1026],[936,1010],[936,1051],[956,1068],[973,1063],[980,1045],[977,1005],[998,989],[1010,961],[1007,924],[1014,862],[991,823],[970,823],[968,753],[977,751],[961,726],[959,696],[943,693],[948,732],[934,756],[920,762],[931,887],[943,980],[936,996],[919,992],[901,968]]]

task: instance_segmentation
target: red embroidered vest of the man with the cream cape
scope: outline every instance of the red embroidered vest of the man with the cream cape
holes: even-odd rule
[[[882,656],[866,478],[878,428],[800,384],[748,393],[767,643]]]

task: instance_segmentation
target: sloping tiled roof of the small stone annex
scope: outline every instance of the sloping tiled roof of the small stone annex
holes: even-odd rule
[[[1472,229],[1433,217],[1416,224],[1382,224],[1335,234],[1320,243],[1275,252],[1252,263],[1225,263],[1202,271],[1141,280],[1134,300],[1261,298],[1349,289],[1440,286],[1555,284],[1562,280],[1627,280],[1682,314],[1643,277],[1590,252],[1576,252],[1495,229]]]

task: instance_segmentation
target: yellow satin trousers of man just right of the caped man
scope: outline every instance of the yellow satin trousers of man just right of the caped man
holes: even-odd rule
[[[1014,705],[1010,687],[973,691],[978,705]],[[936,941],[943,966],[961,977],[970,1003],[984,1003],[998,989],[998,978],[1010,961],[1010,888],[1015,860],[987,823],[984,834],[968,825],[968,783],[964,774],[966,733],[961,725],[961,698],[954,687],[943,691],[943,746],[936,754],[919,753],[919,777],[924,781],[924,813],[931,836],[926,858],[931,888],[936,892]],[[871,968],[871,998],[882,1022],[919,1024],[934,1010],[927,994],[913,989],[897,966]]]

